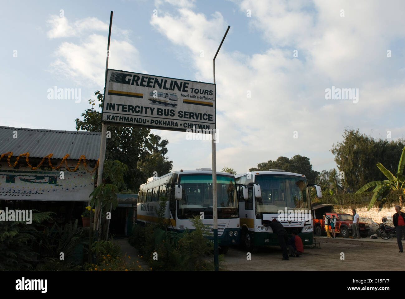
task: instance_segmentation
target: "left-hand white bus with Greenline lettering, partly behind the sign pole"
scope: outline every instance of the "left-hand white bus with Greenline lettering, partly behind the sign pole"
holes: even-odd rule
[[[247,193],[247,192],[246,192]],[[157,222],[159,202],[167,200],[164,218],[168,229],[182,232],[193,230],[190,218],[203,218],[205,230],[213,232],[212,170],[172,171],[161,177],[151,177],[139,188],[138,224]],[[234,175],[217,172],[218,246],[222,252],[239,244],[239,207]],[[207,236],[213,240],[212,236]]]

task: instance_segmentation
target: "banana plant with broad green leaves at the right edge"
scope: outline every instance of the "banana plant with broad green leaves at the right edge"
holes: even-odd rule
[[[398,163],[398,170],[396,175],[393,175],[391,171],[386,169],[381,163],[377,163],[378,169],[386,176],[387,179],[384,181],[373,181],[365,184],[362,186],[356,193],[361,193],[366,191],[367,189],[374,187],[373,189],[373,197],[369,203],[369,207],[367,210],[373,207],[375,201],[380,197],[384,197],[390,190],[399,190],[399,205],[403,206],[403,195],[405,194],[404,184],[405,184],[405,176],[403,175],[405,166],[405,147],[402,149],[401,158],[399,158]]]

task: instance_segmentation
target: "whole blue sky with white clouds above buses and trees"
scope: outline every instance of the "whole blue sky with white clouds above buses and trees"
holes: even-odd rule
[[[402,0],[4,2],[0,125],[75,130],[104,88],[110,11],[109,68],[203,82],[231,26],[215,61],[218,169],[296,154],[331,169],[345,127],[405,137]],[[49,99],[55,86],[80,89],[80,103]],[[355,93],[328,98],[333,86]],[[152,132],[174,169],[211,167],[211,141]]]

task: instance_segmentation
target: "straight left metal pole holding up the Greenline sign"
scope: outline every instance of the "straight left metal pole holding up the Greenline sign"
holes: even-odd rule
[[[108,43],[107,43],[107,59],[105,62],[105,85],[104,85],[104,96],[103,96],[103,100],[105,97],[105,89],[107,88],[107,69],[108,69],[108,57],[109,57],[109,52],[110,52],[110,39],[111,39],[111,25],[113,23],[113,11],[111,11],[110,14],[110,28],[108,31]],[[104,159],[105,159],[105,147],[106,147],[106,143],[107,143],[107,124],[105,124],[104,122],[102,122],[102,127],[101,127],[101,142],[100,142],[100,157],[99,157],[99,161],[98,161],[98,172],[97,172],[97,186],[100,186],[102,184],[102,172],[104,169]],[[101,220],[101,203],[100,205],[98,205],[95,209],[95,213],[94,213],[94,226],[93,229],[98,231],[98,227],[99,227],[99,222]],[[97,227],[96,227],[96,217],[97,217]],[[100,239],[100,234],[99,237]]]

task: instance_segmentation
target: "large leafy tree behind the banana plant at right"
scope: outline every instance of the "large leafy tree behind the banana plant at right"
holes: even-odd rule
[[[357,190],[369,181],[383,180],[384,174],[375,167],[377,162],[387,165],[391,172],[396,171],[396,157],[401,155],[405,141],[374,140],[360,134],[359,130],[343,132],[343,141],[333,144],[331,149],[339,171],[345,173],[343,186]]]

